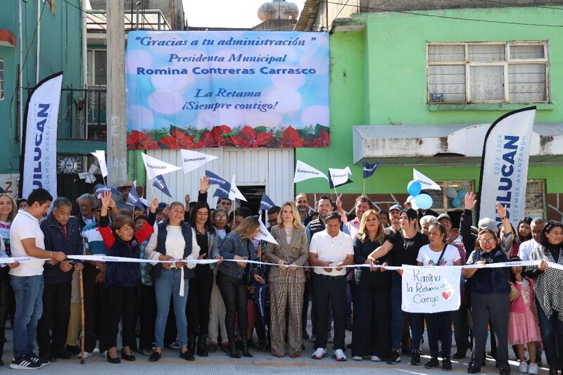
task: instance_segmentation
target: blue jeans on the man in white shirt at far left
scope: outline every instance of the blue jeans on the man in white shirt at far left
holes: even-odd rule
[[[11,275],[10,284],[15,294],[13,357],[18,358],[34,349],[37,321],[43,314],[43,275]]]

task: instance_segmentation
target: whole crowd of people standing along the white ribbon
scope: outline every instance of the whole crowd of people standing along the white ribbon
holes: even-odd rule
[[[274,244],[256,239],[256,212],[221,198],[210,208],[209,188],[202,177],[196,202],[189,195],[170,205],[154,198],[141,209],[125,204],[132,189],[127,183],[115,200],[110,192],[80,196],[75,216],[68,198],[53,200],[44,189],[17,203],[0,194],[1,257],[33,258],[0,268],[0,335],[6,322],[13,327],[10,367],[37,369],[81,355],[82,282],[84,356],[97,345],[113,364],[137,360],[135,353],[158,362],[165,349],[178,350],[186,361],[220,351],[234,358],[252,357],[251,350],[300,357],[310,340],[315,360],[327,357],[331,346],[336,361],[348,360],[350,350],[355,361],[393,365],[406,356],[418,366],[426,329],[426,369],[449,371],[451,358],[471,351],[467,372],[481,371],[488,337],[500,374],[510,374],[509,345],[521,373],[538,374],[542,348],[549,373],[562,368],[563,271],[548,267],[563,265],[561,222],[524,217],[513,228],[497,204],[500,225],[483,219],[473,227],[471,192],[456,227],[447,214],[408,203],[378,211],[365,195],[350,215],[329,196],[318,198],[312,212],[300,193],[267,211]],[[189,262],[206,259],[217,262]],[[514,260],[538,262],[463,267]],[[461,266],[460,308],[404,312],[403,272],[386,269],[403,265]],[[0,355],[3,346],[0,341]]]

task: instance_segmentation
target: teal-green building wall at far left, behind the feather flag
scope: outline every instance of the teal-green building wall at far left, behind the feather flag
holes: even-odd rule
[[[41,1],[41,0],[38,0]],[[0,126],[9,134],[0,138],[0,174],[17,173],[20,160],[19,125],[16,115],[15,85],[20,64],[19,5],[22,6],[23,29],[23,87],[34,87],[37,67],[37,1],[3,0],[0,11],[0,29],[9,30],[18,39],[15,47],[0,47],[0,58],[4,59],[4,100],[0,100]],[[63,87],[81,87],[82,55],[80,31],[80,0],[54,1],[55,11],[48,7],[43,11],[39,39],[39,80],[63,70]],[[43,2],[41,5],[43,6]],[[27,54],[27,58],[26,58]],[[13,100],[12,100],[13,98]],[[27,101],[27,90],[23,91],[23,104]],[[61,108],[68,108],[68,96],[61,96]],[[59,118],[59,126],[67,126],[64,118]],[[65,152],[58,149],[58,152]]]

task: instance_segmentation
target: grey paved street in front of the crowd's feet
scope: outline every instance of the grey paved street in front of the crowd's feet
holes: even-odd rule
[[[310,331],[310,329],[309,329]],[[12,356],[12,331],[6,330],[6,350],[4,351],[4,370],[16,372],[18,370],[9,369],[8,358]],[[346,332],[346,342],[350,341],[350,332]],[[425,338],[425,342],[426,338]],[[120,347],[120,344],[118,344]],[[407,362],[409,357],[403,356],[403,362],[392,366],[385,362],[371,362],[363,360],[361,362],[352,361],[350,359],[350,350],[346,354],[349,356],[348,362],[336,362],[331,357],[324,360],[312,360],[310,355],[313,352],[312,343],[305,342],[305,350],[300,358],[292,359],[277,358],[268,353],[261,353],[251,350],[253,358],[241,357],[239,360],[227,357],[224,352],[210,353],[209,357],[202,359],[196,356],[195,362],[186,362],[180,360],[177,351],[164,350],[163,357],[156,363],[148,362],[148,357],[137,353],[135,362],[122,361],[121,364],[110,364],[106,362],[106,358],[101,357],[96,351],[93,357],[87,358],[85,364],[80,364],[80,360],[58,360],[58,362],[49,364],[49,366],[40,369],[42,374],[444,374],[440,369],[427,370],[422,366],[410,366]],[[423,353],[428,352],[428,346],[424,345]],[[452,348],[455,352],[455,347]],[[329,355],[331,355],[329,350]],[[470,354],[470,353],[469,353]],[[510,358],[512,358],[512,350],[510,350]],[[429,357],[424,355],[422,363]],[[467,374],[467,362],[469,358],[462,360],[453,360],[453,372],[455,374]],[[545,363],[545,356],[543,358]],[[512,373],[518,374],[517,362],[512,364]],[[498,370],[494,367],[493,361],[487,362],[488,366],[482,367],[483,374],[498,374]],[[540,374],[547,374],[547,369],[541,369]]]

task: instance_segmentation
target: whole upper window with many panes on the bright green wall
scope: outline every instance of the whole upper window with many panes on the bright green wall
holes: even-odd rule
[[[547,41],[428,43],[428,103],[546,103]]]

